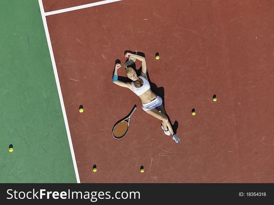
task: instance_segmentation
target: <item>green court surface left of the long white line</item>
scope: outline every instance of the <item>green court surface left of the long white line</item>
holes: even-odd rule
[[[0,183],[77,183],[39,3],[0,19]]]

